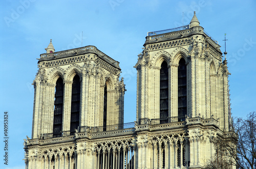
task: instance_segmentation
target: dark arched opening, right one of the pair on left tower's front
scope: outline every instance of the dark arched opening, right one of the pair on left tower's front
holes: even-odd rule
[[[79,115],[80,115],[80,77],[75,75],[72,83],[72,97],[71,97],[71,120],[70,120],[70,131],[71,134],[75,133],[75,129],[79,126]]]

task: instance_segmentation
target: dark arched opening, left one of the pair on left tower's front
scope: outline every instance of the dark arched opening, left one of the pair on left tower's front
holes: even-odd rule
[[[63,80],[58,78],[55,87],[54,115],[53,115],[53,137],[61,136],[62,114],[63,114]]]

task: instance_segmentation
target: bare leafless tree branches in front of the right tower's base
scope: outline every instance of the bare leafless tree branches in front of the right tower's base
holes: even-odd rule
[[[219,135],[215,139],[216,155],[205,165],[205,169],[256,168],[256,112],[250,112],[246,119],[233,121],[233,136]]]

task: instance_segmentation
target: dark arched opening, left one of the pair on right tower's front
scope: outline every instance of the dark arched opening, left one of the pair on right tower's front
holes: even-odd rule
[[[160,124],[168,123],[168,66],[165,61],[160,69]]]

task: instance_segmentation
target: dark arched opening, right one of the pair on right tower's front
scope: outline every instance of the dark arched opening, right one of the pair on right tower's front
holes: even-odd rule
[[[187,68],[183,58],[178,66],[178,121],[184,121],[187,114]]]

